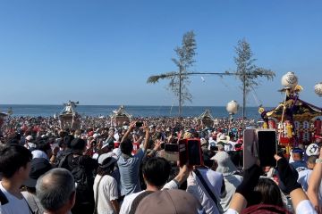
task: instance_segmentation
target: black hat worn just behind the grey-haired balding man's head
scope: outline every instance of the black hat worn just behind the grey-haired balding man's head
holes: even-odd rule
[[[44,158],[35,158],[31,160],[30,164],[30,175],[29,178],[23,183],[23,185],[26,185],[28,187],[35,187],[38,177],[42,176],[47,171],[52,169],[52,166],[50,165],[49,161]]]

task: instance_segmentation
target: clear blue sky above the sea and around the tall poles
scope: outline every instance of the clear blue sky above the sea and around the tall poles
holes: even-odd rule
[[[256,64],[275,71],[258,79],[247,104],[274,106],[281,77],[293,71],[301,99],[321,105],[321,1],[0,1],[0,103],[172,105],[168,81],[153,74],[176,70],[174,47],[194,30],[194,71],[234,70],[234,46],[246,38]],[[191,77],[188,105],[242,103],[233,77]]]

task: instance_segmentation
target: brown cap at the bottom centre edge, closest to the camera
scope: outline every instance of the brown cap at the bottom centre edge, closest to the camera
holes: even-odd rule
[[[203,213],[199,201],[183,190],[171,189],[150,193],[140,203],[135,214],[196,214]]]

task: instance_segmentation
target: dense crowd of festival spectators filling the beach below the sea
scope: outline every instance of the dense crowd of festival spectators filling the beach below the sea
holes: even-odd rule
[[[322,213],[322,137],[243,168],[242,127],[256,121],[9,118],[0,133],[0,213]],[[198,142],[191,165],[167,145]],[[178,146],[180,151],[180,145]],[[170,154],[169,154],[170,153]],[[176,156],[177,155],[177,156]]]

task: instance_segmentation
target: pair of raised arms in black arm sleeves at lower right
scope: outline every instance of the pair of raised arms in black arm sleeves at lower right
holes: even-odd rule
[[[314,210],[312,203],[309,201],[308,196],[304,193],[301,188],[301,185],[297,183],[297,171],[293,170],[290,164],[286,159],[275,155],[275,161],[277,161],[277,170],[281,181],[285,185],[285,192],[289,193],[292,199],[292,205],[296,213],[317,213]],[[242,184],[239,185],[236,189],[236,193],[233,195],[233,200],[230,204],[227,214],[236,214],[236,213],[252,213],[257,211],[270,211],[270,213],[290,213],[289,210],[286,210],[284,207],[271,203],[267,204],[266,202],[259,202],[257,204],[251,205],[246,208],[249,203],[252,202],[254,195],[254,188],[258,185],[258,180],[260,175],[263,173],[262,169],[258,164],[254,164],[250,169],[244,171]],[[265,192],[268,193],[268,190]],[[257,195],[257,197],[261,197]],[[273,195],[268,195],[270,198],[274,198]],[[263,197],[261,197],[263,198]]]

